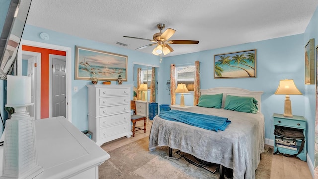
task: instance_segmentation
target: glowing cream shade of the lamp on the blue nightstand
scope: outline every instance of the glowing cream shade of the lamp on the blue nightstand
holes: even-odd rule
[[[301,95],[302,93],[297,89],[294,80],[280,80],[279,86],[275,92],[275,94],[295,94],[295,95]]]

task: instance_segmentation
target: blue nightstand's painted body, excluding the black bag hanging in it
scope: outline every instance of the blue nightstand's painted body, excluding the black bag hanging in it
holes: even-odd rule
[[[297,155],[299,159],[302,161],[306,161],[306,119],[303,116],[296,116],[293,117],[285,117],[283,114],[273,114],[274,118],[274,129],[277,127],[287,127],[294,130],[300,130],[303,131],[303,134],[305,136],[305,143],[303,150]],[[302,140],[296,139],[297,147],[291,148],[286,147],[284,145],[277,145],[276,139],[280,139],[281,137],[278,135],[274,135],[274,153],[277,151],[277,148],[280,153],[284,154],[297,154],[299,151],[299,148],[301,146]]]

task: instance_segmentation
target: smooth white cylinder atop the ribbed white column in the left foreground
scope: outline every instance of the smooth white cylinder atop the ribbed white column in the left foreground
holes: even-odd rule
[[[31,77],[7,76],[7,106],[24,106],[31,104]]]

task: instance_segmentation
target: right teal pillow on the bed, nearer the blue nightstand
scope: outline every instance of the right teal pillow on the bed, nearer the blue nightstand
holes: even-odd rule
[[[254,97],[227,95],[224,109],[255,114],[258,111],[257,103]]]

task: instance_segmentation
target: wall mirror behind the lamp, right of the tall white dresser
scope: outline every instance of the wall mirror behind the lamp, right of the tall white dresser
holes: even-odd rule
[[[134,100],[146,100],[150,102],[150,89],[151,89],[151,81],[152,81],[152,68],[154,66],[147,64],[137,64],[134,63]],[[139,91],[140,88],[137,87],[137,79],[138,79],[138,69],[140,71],[140,84],[147,84],[147,91]],[[155,102],[158,103],[158,79],[159,79],[159,67],[155,68]]]

